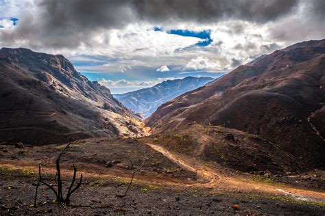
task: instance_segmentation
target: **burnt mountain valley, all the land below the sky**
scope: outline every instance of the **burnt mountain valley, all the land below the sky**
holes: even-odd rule
[[[178,95],[157,99],[144,122],[62,55],[1,49],[1,215],[324,215],[324,47],[302,42],[213,81],[131,92]],[[81,187],[66,205],[41,185],[35,206],[38,165],[56,187],[62,150],[63,190],[74,166]]]

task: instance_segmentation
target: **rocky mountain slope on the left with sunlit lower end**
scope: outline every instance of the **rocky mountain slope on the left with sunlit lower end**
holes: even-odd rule
[[[62,55],[0,50],[0,141],[143,135],[139,118]]]

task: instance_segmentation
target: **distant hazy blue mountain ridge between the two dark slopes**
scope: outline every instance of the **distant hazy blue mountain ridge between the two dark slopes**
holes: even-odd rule
[[[158,83],[153,87],[147,87],[125,94],[114,94],[125,107],[136,113],[141,113],[144,118],[149,117],[163,103],[205,85],[213,81],[210,77],[185,77]]]

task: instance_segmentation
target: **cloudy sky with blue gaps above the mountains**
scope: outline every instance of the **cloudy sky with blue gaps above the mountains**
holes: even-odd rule
[[[323,38],[324,0],[0,0],[0,47],[62,54],[112,93]]]

